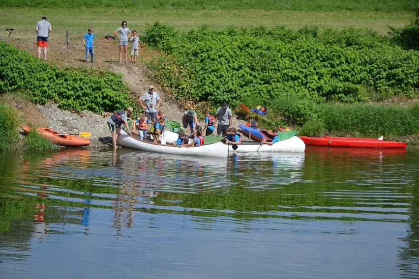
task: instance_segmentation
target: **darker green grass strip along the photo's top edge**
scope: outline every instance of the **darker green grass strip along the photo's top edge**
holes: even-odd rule
[[[132,9],[158,9],[158,10],[304,10],[304,11],[384,11],[394,12],[400,10],[412,11],[417,2],[415,0],[259,0],[259,1],[237,1],[237,0],[126,0],[116,2],[113,0],[2,0],[0,6],[4,7],[45,7],[55,6],[58,8],[80,8],[80,7],[114,7]]]

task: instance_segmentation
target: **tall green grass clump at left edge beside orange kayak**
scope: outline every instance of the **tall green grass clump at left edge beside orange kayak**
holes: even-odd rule
[[[0,151],[16,148],[19,142],[17,129],[20,126],[19,111],[0,103]]]

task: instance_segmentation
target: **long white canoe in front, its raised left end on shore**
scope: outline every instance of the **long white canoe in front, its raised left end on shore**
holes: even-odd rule
[[[220,141],[207,145],[181,147],[173,144],[164,145],[138,140],[134,137],[129,136],[125,131],[121,130],[117,142],[123,147],[129,147],[133,149],[150,151],[155,153],[223,158],[227,158],[228,156],[227,145]]]

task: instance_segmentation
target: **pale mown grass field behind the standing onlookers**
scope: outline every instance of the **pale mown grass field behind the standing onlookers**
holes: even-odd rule
[[[42,16],[47,16],[55,34],[65,34],[77,38],[86,33],[88,27],[94,29],[97,36],[112,34],[125,20],[128,28],[137,29],[143,34],[146,25],[154,22],[172,25],[176,30],[188,30],[202,25],[211,28],[227,26],[275,26],[285,25],[291,29],[300,29],[305,25],[316,25],[320,28],[343,29],[371,28],[380,34],[387,34],[388,26],[403,27],[414,18],[414,13],[400,12],[366,12],[366,11],[300,11],[300,10],[134,10],[116,8],[10,8],[0,9],[0,37],[7,37],[6,28],[14,28],[16,39],[33,40],[36,36],[35,25]],[[28,37],[29,36],[29,37]]]

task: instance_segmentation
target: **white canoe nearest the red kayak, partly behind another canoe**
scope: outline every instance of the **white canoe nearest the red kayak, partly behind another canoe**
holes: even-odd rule
[[[277,141],[272,145],[256,141],[243,141],[242,144],[237,144],[237,147],[234,150],[231,145],[228,145],[229,152],[304,152],[305,150],[304,141],[296,136],[288,140]]]

